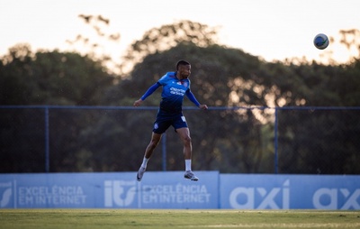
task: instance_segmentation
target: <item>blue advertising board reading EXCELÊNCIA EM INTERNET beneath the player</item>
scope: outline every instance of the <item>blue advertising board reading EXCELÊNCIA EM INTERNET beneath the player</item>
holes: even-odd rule
[[[219,172],[49,173],[0,175],[2,208],[218,208]]]

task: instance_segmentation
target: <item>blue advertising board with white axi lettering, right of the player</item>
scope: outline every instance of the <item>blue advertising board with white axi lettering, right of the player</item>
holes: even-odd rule
[[[220,208],[360,209],[360,176],[220,175]]]

